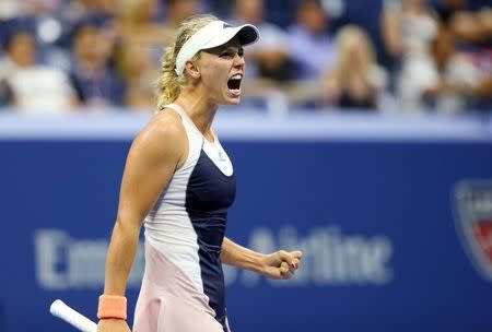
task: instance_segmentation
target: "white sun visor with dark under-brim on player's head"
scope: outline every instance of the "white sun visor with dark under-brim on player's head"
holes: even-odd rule
[[[239,37],[241,45],[244,46],[256,43],[259,38],[259,31],[253,24],[231,26],[223,21],[213,21],[207,24],[183,45],[176,57],[176,73],[183,74],[186,61],[200,50],[224,45],[236,35]]]

